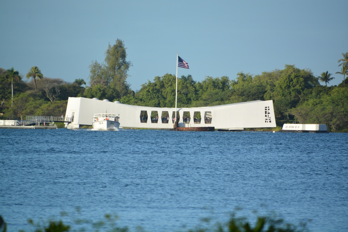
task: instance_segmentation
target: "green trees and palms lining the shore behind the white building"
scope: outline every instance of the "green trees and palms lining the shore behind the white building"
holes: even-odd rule
[[[337,57],[340,58],[339,54]],[[89,77],[84,77],[89,81],[88,86],[82,78],[70,83],[45,77],[37,66],[28,67],[25,77],[31,78],[30,81],[23,81],[24,75],[13,67],[0,68],[0,119],[65,115],[69,97],[96,97],[129,105],[173,107],[175,75],[157,76],[144,83],[140,90],[133,91],[127,83],[127,72],[133,65],[126,58],[122,40],[117,39],[112,46],[109,44],[104,62],[93,61],[89,65]],[[285,64],[282,70],[256,75],[238,72],[232,80],[227,76],[206,76],[202,81],[195,81],[191,75],[182,75],[178,77],[177,102],[179,107],[185,108],[272,100],[277,128],[246,130],[278,131],[284,123],[295,122],[326,124],[329,132],[348,132],[348,52],[341,54],[338,63],[338,70],[341,70],[335,72],[335,77],[325,70],[321,76],[315,77],[310,69],[289,64]],[[338,86],[328,86],[333,78],[342,76]]]

